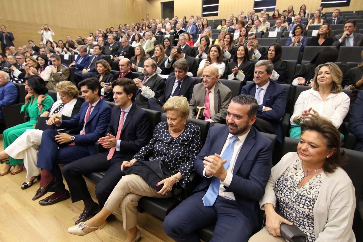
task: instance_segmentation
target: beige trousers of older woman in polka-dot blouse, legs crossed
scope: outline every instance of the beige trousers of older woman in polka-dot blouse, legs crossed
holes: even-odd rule
[[[121,207],[123,228],[126,230],[135,227],[137,224],[140,198],[143,196],[166,198],[168,195],[158,194],[158,191],[149,186],[139,175],[126,175],[117,183],[105,203],[105,209],[114,212]]]

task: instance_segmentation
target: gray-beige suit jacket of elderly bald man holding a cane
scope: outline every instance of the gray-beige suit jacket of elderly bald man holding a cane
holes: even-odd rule
[[[214,89],[214,110],[215,115],[211,119],[216,123],[225,123],[227,108],[232,98],[232,91],[224,86],[220,81],[216,83]],[[206,88],[203,83],[198,83],[193,88],[192,98],[189,102],[189,117],[195,118],[198,113],[197,106],[204,106]],[[203,111],[203,110],[202,110]],[[199,118],[203,114],[199,115]]]

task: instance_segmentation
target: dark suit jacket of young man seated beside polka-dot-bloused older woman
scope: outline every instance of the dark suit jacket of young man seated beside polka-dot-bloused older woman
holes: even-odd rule
[[[121,116],[121,108],[114,106],[111,111],[111,121],[107,127],[106,134],[116,136],[119,119]],[[132,104],[126,119],[123,121],[121,136],[120,136],[120,150],[115,151],[114,158],[123,158],[131,160],[135,153],[139,152],[151,138],[152,129],[144,110],[138,107],[135,103]]]

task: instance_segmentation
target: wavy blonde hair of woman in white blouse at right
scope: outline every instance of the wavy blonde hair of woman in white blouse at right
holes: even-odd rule
[[[318,73],[321,67],[327,66],[330,70],[330,73],[333,77],[333,86],[331,87],[331,93],[340,93],[342,91],[342,81],[343,81],[343,73],[340,68],[334,62],[326,62],[324,64],[320,64],[315,68],[315,76],[314,76],[314,83],[313,89],[318,91],[319,90],[319,83],[318,83]]]

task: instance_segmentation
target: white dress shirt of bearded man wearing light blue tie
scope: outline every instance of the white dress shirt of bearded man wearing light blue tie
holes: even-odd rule
[[[246,140],[246,137],[248,135],[248,133],[250,132],[251,129],[249,129],[246,134],[243,134],[241,136],[238,136],[238,139],[236,142],[234,142],[234,149],[233,149],[233,155],[231,157],[231,161],[229,162],[229,165],[227,167],[227,176],[226,178],[224,179],[223,182],[220,182],[220,186],[219,186],[219,192],[218,192],[218,195],[220,197],[223,197],[223,198],[226,198],[226,199],[229,199],[229,200],[236,200],[236,198],[234,197],[234,194],[233,192],[225,192],[225,189],[224,189],[224,186],[229,186],[231,185],[231,182],[232,182],[232,178],[233,178],[233,169],[234,169],[234,165],[236,164],[236,160],[237,160],[237,157],[238,157],[238,154],[240,153],[240,150],[242,148],[242,145],[243,143],[245,142]],[[225,149],[227,148],[227,146],[229,145],[229,143],[231,143],[232,141],[232,137],[233,135],[232,134],[228,134],[228,137],[227,137],[227,140],[224,142],[224,145],[223,145],[223,148],[222,148],[222,151],[221,151],[221,156],[223,156],[223,152],[225,151]],[[205,168],[203,170],[203,176],[205,176]],[[205,177],[208,177],[208,176],[205,176]],[[209,176],[211,177],[211,176]],[[208,178],[209,178],[208,177]]]

